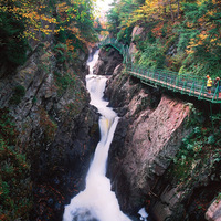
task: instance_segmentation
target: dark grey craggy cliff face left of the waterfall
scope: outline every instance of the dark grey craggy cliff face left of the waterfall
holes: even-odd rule
[[[85,88],[85,51],[78,52],[74,63],[59,63],[44,42],[25,65],[1,78],[0,106],[14,116],[21,147],[31,162],[31,220],[62,220],[64,203],[84,188],[99,137],[98,115],[88,105]]]

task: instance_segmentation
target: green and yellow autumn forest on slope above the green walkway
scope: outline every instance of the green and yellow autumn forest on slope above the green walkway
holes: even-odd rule
[[[219,76],[221,53],[221,2],[131,1],[115,2],[108,13],[113,36],[125,44],[137,35],[136,62],[149,69],[168,69],[178,73]]]

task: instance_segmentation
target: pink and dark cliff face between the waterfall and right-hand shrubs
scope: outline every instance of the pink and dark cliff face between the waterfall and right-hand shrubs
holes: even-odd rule
[[[152,188],[188,134],[183,127],[188,105],[136,81],[116,70],[106,91],[122,116],[109,151],[108,175],[126,212],[136,211],[147,196],[155,196]]]

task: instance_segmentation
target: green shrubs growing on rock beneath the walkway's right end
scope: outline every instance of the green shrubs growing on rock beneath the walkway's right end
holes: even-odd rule
[[[189,126],[193,127],[192,133],[182,139],[182,144],[173,158],[171,166],[171,172],[179,181],[187,181],[192,176],[192,165],[197,161],[200,164],[199,168],[203,164],[210,162],[210,167],[213,164],[221,161],[221,134],[220,134],[220,114],[214,114],[212,117],[213,126],[211,122],[201,120],[202,113],[196,114],[196,109],[192,108],[191,122]]]

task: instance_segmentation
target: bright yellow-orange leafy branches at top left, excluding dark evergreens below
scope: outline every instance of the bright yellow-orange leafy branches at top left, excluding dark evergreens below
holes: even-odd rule
[[[91,0],[54,1],[49,7],[45,0],[0,0],[0,12],[13,14],[25,23],[24,36],[35,39],[36,32],[52,33],[49,24],[56,24],[56,33],[70,25],[84,25],[94,20],[94,2]],[[57,20],[59,19],[59,20]],[[57,25],[59,24],[59,25]],[[76,28],[77,29],[77,28]],[[74,32],[76,32],[76,29]]]

